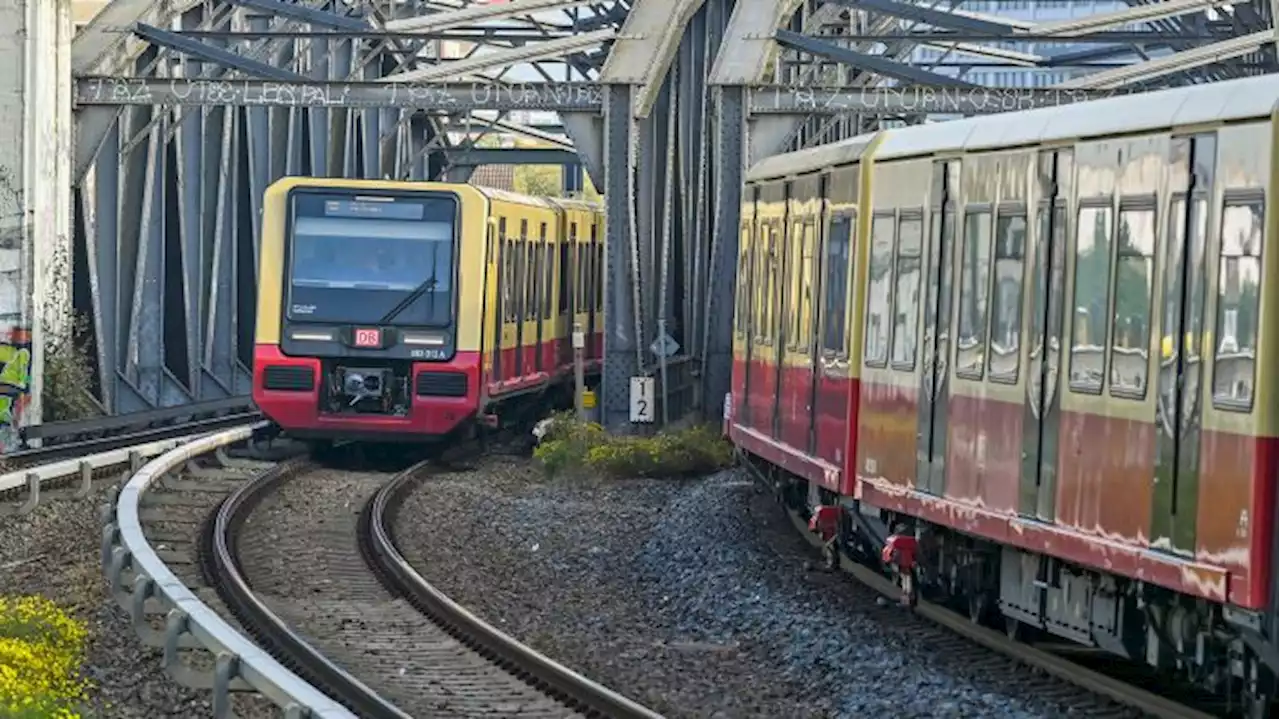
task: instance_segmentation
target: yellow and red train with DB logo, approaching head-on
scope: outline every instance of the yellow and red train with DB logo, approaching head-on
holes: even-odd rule
[[[571,403],[575,326],[598,372],[595,205],[284,178],[262,228],[253,400],[292,436],[433,441]]]

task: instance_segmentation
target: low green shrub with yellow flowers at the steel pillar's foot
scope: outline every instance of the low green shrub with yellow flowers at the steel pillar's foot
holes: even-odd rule
[[[730,466],[733,450],[707,425],[654,436],[617,436],[562,412],[552,416],[534,457],[548,476],[685,477]]]

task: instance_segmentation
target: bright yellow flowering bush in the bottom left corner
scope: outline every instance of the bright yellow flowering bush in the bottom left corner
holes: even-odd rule
[[[78,718],[86,641],[84,627],[52,601],[0,596],[0,718]]]

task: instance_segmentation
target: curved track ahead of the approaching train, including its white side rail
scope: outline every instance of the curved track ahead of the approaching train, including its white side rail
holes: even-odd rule
[[[214,691],[215,716],[239,715],[244,690],[285,716],[658,716],[490,627],[408,565],[394,509],[438,468],[225,450],[248,435],[204,438],[137,470],[104,533],[116,600],[179,683]]]

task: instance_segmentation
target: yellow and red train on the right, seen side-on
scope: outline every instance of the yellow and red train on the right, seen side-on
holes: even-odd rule
[[[1267,711],[1280,673],[1280,81],[771,157],[727,432],[927,591]],[[1176,342],[1170,338],[1184,338]]]

